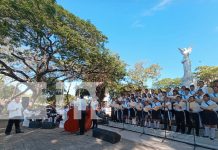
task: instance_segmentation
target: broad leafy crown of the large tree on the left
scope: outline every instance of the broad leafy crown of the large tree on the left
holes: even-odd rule
[[[0,74],[19,82],[121,78],[107,37],[55,0],[1,0],[0,10]]]

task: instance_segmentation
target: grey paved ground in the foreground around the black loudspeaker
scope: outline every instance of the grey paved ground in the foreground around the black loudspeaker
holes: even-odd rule
[[[103,126],[100,126],[103,128]],[[193,146],[165,141],[134,132],[122,132],[122,139],[117,144],[110,144],[92,137],[92,131],[83,136],[64,132],[63,129],[23,129],[25,133],[4,135],[0,128],[0,150],[192,150]],[[118,129],[109,129],[118,130]],[[205,150],[196,148],[197,150]]]

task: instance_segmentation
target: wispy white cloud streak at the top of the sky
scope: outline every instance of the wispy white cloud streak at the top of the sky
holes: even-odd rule
[[[157,11],[163,10],[164,8],[166,8],[169,4],[171,4],[173,0],[160,0],[159,3],[157,3],[156,5],[154,5],[152,8],[146,10],[143,13],[143,16],[150,16],[152,14],[154,14]]]

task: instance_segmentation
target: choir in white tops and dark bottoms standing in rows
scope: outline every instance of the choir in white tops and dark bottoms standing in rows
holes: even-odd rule
[[[199,136],[204,128],[204,137],[215,139],[218,124],[218,81],[207,86],[198,81],[197,86],[182,86],[167,89],[148,90],[128,93],[113,98],[110,104],[113,121],[133,125],[172,130]],[[187,131],[186,131],[187,130]]]

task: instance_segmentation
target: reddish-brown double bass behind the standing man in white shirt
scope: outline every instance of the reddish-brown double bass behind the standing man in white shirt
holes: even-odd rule
[[[68,119],[64,124],[64,130],[67,132],[77,132],[79,131],[79,120],[75,118],[77,116],[78,110],[75,107],[72,107],[68,112],[67,116]],[[85,131],[88,131],[92,126],[92,119],[91,119],[91,108],[86,107],[86,119],[85,119]]]

